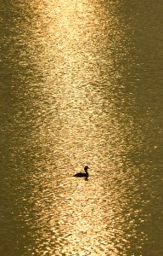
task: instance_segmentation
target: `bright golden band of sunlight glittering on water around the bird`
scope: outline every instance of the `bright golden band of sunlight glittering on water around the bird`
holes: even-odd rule
[[[37,162],[36,168],[44,163],[44,174],[33,180],[37,184],[33,191],[39,227],[37,253],[120,255],[130,244],[122,214],[127,199],[118,191],[115,177],[120,177],[121,150],[126,143],[121,141],[114,95],[109,94],[115,86],[110,78],[114,61],[110,54],[107,60],[104,55],[103,11],[97,11],[98,2],[95,6],[87,1],[47,4],[53,22],[42,20],[46,33],[39,38],[44,49],[39,66],[47,81],[38,119],[46,160]],[[110,19],[112,24],[111,15]],[[114,83],[117,72],[115,76]],[[102,88],[104,80],[107,86],[112,84],[108,92]],[[43,113],[47,113],[45,108],[48,116]],[[76,168],[86,163],[91,167],[90,179],[72,178]],[[124,173],[121,177],[124,180]]]

